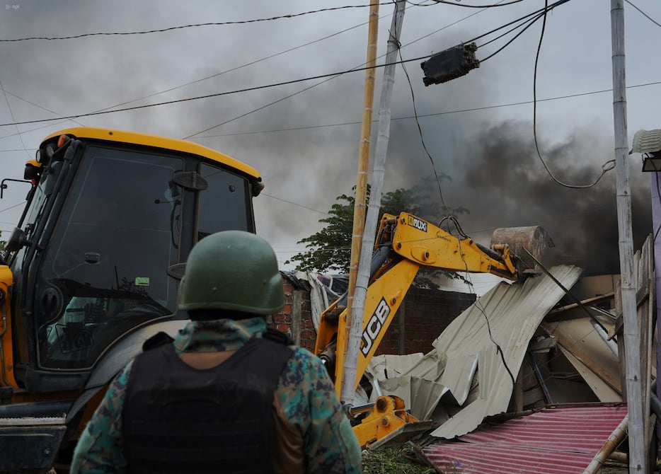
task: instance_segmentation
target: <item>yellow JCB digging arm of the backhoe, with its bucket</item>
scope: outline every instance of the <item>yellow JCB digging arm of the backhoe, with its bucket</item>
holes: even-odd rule
[[[421,268],[490,273],[516,282],[535,271],[534,260],[527,258],[524,249],[540,260],[545,248],[552,245],[541,227],[515,227],[497,229],[490,248],[485,248],[455,224],[459,237],[407,212],[398,216],[384,214],[381,218],[364,305],[354,388],[361,382],[369,360]],[[314,349],[335,381],[338,395],[345,379],[347,339],[346,300],[340,298],[321,314]],[[430,422],[410,415],[403,401],[393,395],[346,408],[363,447],[386,437],[403,441],[431,426]]]

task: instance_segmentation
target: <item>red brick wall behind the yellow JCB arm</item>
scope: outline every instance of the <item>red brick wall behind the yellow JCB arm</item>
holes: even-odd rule
[[[314,350],[316,331],[312,323],[310,293],[284,279],[285,305],[270,316],[272,328],[289,334],[294,342]],[[429,352],[432,342],[461,311],[475,301],[474,294],[411,287],[394,316],[377,354]]]

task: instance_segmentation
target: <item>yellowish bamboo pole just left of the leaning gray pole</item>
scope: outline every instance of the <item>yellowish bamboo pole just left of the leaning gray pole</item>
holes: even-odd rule
[[[377,39],[379,37],[379,2],[377,0],[369,5],[369,26],[367,28],[367,68],[365,69],[365,88],[363,96],[362,109],[362,127],[360,129],[360,147],[358,154],[358,171],[356,176],[356,196],[353,207],[353,230],[351,235],[351,257],[349,263],[349,287],[347,288],[347,321],[345,321],[344,340],[349,340],[351,324],[351,308],[354,292],[356,289],[356,278],[358,275],[358,262],[360,261],[360,244],[365,226],[365,207],[367,206],[367,171],[369,170],[369,145],[372,139],[372,108],[374,105],[374,67],[377,62]],[[362,321],[362,318],[360,318]],[[338,328],[341,328],[339,325]],[[345,367],[353,367],[353,378],[347,378],[347,369],[343,371],[343,379],[340,381],[340,393],[343,393],[345,386],[351,386],[356,378],[357,359],[347,357],[347,347],[338,348],[345,351]],[[340,395],[338,393],[338,395]],[[342,398],[343,402],[352,403],[353,395],[350,400]]]

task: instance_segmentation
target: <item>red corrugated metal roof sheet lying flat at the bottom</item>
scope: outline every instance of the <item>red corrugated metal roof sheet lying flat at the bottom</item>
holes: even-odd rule
[[[626,416],[626,405],[543,408],[423,451],[445,473],[582,473]]]

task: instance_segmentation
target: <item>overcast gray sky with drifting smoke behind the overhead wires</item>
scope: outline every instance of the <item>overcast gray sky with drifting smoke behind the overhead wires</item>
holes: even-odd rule
[[[632,2],[661,23],[657,0]],[[249,21],[367,3],[16,0],[0,5],[0,40]],[[401,54],[405,60],[425,57],[543,6],[541,0],[488,9],[408,4]],[[392,4],[380,6],[379,55],[386,51],[392,13]],[[122,103],[158,103],[345,71],[365,60],[367,18],[368,8],[343,8],[164,33],[0,42],[4,89],[0,123],[84,114]],[[636,130],[661,128],[655,117],[661,94],[655,45],[661,42],[661,27],[631,4],[625,4],[625,18],[631,143]],[[470,214],[460,216],[461,226],[476,240],[488,243],[497,227],[542,225],[556,242],[556,260],[594,265],[590,269],[594,273],[616,272],[614,171],[588,190],[570,190],[551,180],[534,152],[531,100],[540,33],[541,21],[479,69],[442,85],[423,86],[420,60],[406,63],[425,144],[437,172],[452,178],[442,183],[445,202],[469,209]],[[497,35],[477,43],[482,45]],[[478,59],[488,57],[510,37],[478,49]],[[382,76],[383,70],[378,69],[375,118]],[[536,125],[542,156],[558,180],[592,183],[602,164],[613,158],[611,85],[609,2],[572,0],[549,13],[537,70]],[[75,122],[4,125],[0,127],[0,178],[21,178],[25,160],[33,156],[41,139],[67,127],[191,136],[260,170],[266,188],[255,200],[258,233],[272,243],[284,262],[300,250],[297,241],[321,228],[318,219],[326,215],[335,197],[351,192],[363,88],[361,71],[331,80],[81,117]],[[413,104],[404,71],[398,67],[386,192],[434,175],[415,120],[409,118]],[[219,124],[224,125],[214,127]],[[636,244],[652,231],[649,181],[648,175],[640,173],[640,155],[632,155]],[[12,185],[0,201],[0,231],[5,238],[18,221],[26,191]],[[440,206],[439,198],[438,202]]]

